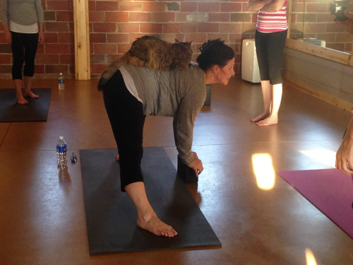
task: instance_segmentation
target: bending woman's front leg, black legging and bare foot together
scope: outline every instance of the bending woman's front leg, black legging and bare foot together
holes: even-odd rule
[[[177,232],[162,222],[148,201],[140,162],[143,155],[143,107],[128,92],[117,71],[103,90],[104,105],[119,151],[121,190],[133,201],[138,212],[137,225],[154,235],[174,237]]]

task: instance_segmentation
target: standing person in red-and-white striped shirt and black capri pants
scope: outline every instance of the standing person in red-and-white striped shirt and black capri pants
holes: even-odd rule
[[[250,119],[258,126],[278,123],[282,100],[282,54],[287,38],[287,0],[249,0],[248,11],[258,11],[255,45],[263,93],[263,112]]]

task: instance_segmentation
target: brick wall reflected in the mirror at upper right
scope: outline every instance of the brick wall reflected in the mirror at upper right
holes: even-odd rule
[[[326,47],[352,52],[352,34],[335,23],[328,0],[292,0],[291,38],[313,37],[326,41]],[[353,12],[353,2],[349,3]]]

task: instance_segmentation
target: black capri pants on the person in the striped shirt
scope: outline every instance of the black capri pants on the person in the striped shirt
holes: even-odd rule
[[[282,56],[285,49],[287,30],[277,33],[261,33],[256,30],[255,45],[261,81],[271,84],[282,83]]]

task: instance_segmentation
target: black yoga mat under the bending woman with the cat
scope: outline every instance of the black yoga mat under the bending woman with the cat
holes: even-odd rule
[[[138,228],[136,208],[120,191],[115,154],[114,149],[80,150],[90,254],[221,245],[162,148],[144,148],[146,193],[157,216],[178,235],[161,237]]]

